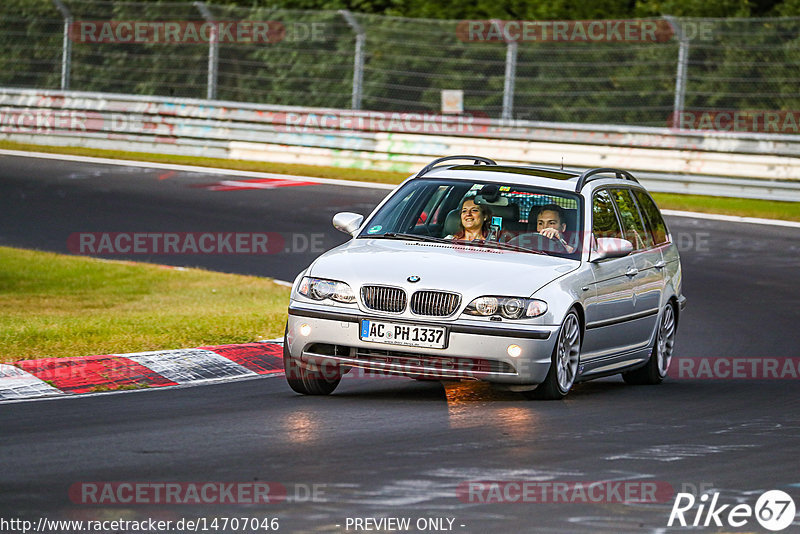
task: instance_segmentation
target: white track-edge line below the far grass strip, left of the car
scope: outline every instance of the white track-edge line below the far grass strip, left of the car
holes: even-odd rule
[[[358,182],[355,180],[334,180],[332,178],[314,178],[311,176],[296,176],[291,174],[276,174],[271,172],[237,171],[235,169],[219,169],[216,167],[200,167],[195,165],[177,165],[174,163],[155,163],[151,161],[132,161],[125,159],[95,158],[90,156],[73,156],[70,154],[47,154],[44,152],[25,152],[22,150],[0,149],[0,155],[22,156],[39,159],[55,159],[62,161],[77,161],[80,163],[99,163],[103,165],[119,165],[123,167],[141,167],[145,169],[168,169],[172,171],[203,172],[208,174],[222,174],[225,176],[248,176],[251,178],[273,178],[293,182],[314,182],[318,184],[341,185],[344,187],[368,187],[371,189],[394,189],[393,184],[378,184],[373,182]]]

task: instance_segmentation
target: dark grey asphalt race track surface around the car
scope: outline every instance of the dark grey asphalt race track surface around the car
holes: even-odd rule
[[[80,232],[269,232],[281,236],[283,250],[104,257],[292,280],[318,248],[345,240],[330,224],[334,213],[367,213],[386,194],[337,185],[213,190],[224,179],[0,156],[0,245],[69,252]],[[800,229],[667,222],[689,298],[676,356],[796,361]],[[405,532],[689,531],[667,527],[677,492],[708,490],[719,493],[718,505],[753,507],[778,489],[800,506],[798,393],[791,378],[676,377],[633,387],[611,377],[576,386],[563,402],[530,402],[478,383],[346,378],[330,397],[313,398],[273,377],[7,403],[0,405],[0,517],[278,518],[282,532],[365,532],[355,519],[389,517],[410,518]],[[644,504],[613,494],[498,503],[460,491],[476,481],[650,482],[669,492]],[[270,482],[287,498],[73,502],[80,499],[71,487],[104,482]],[[796,518],[785,532],[799,527]],[[694,531],[765,532],[752,517],[739,528]]]

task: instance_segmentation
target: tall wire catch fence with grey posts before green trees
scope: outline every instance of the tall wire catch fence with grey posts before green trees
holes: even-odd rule
[[[450,111],[491,119],[666,127],[684,118],[687,128],[794,134],[798,86],[799,18],[456,21],[203,2],[0,5],[6,88],[429,113],[444,99]]]

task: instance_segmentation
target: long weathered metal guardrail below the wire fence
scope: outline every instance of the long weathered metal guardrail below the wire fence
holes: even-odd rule
[[[0,89],[0,139],[402,172],[477,153],[626,168],[649,173],[654,190],[696,192],[700,183],[708,194],[800,200],[800,136],[792,135]]]

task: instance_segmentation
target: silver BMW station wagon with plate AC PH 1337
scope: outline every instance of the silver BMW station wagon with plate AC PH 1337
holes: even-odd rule
[[[333,225],[352,239],[292,287],[284,364],[299,393],[329,394],[353,369],[542,399],[616,373],[667,374],[680,258],[627,171],[450,156]]]

